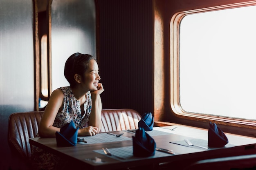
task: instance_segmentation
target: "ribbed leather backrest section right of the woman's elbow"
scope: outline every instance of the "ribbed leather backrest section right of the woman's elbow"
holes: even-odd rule
[[[137,129],[141,115],[132,109],[105,109],[101,111],[101,132]]]

